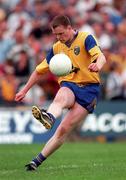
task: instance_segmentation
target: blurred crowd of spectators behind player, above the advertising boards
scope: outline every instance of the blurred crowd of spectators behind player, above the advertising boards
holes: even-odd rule
[[[0,106],[16,106],[15,93],[55,41],[50,21],[66,14],[75,29],[94,34],[106,56],[102,99],[126,99],[125,0],[0,0]],[[42,105],[59,85],[45,74],[20,105]]]

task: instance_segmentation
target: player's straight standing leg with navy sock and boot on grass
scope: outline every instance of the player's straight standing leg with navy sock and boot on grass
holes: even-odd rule
[[[36,170],[41,163],[53,152],[55,152],[65,141],[71,130],[87,116],[85,108],[75,103],[71,110],[66,114],[55,134],[46,143],[42,152],[27,165],[27,170]],[[32,167],[31,167],[32,166]]]

